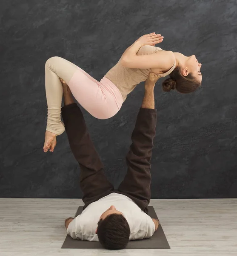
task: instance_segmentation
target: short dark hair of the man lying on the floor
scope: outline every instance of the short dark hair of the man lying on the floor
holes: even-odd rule
[[[97,235],[104,248],[124,249],[130,236],[128,221],[121,214],[110,214],[98,222]]]

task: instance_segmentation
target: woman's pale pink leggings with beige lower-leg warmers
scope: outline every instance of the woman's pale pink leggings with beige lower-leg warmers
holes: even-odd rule
[[[98,119],[114,116],[123,104],[120,91],[109,79],[103,77],[97,81],[70,61],[60,57],[49,58],[45,64],[46,130],[56,135],[65,130],[61,121],[63,87],[59,78],[66,81],[77,102]]]

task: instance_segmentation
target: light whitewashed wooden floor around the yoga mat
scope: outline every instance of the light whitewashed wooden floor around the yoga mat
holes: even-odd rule
[[[237,256],[237,199],[151,200],[171,249],[61,249],[77,199],[0,198],[0,256]]]

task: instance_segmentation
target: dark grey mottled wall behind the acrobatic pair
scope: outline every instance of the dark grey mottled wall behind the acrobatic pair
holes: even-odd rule
[[[203,63],[196,93],[155,98],[157,135],[152,198],[237,197],[237,19],[235,0],[8,0],[0,4],[0,197],[77,198],[79,168],[64,133],[43,153],[46,128],[44,63],[74,62],[101,79],[123,51],[149,32],[160,47],[195,54]],[[121,111],[86,122],[118,186],[143,98],[143,84]]]

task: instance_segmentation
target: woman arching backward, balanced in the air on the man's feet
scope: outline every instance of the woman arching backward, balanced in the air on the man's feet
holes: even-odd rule
[[[126,97],[150,72],[170,76],[163,82],[163,90],[176,89],[191,93],[201,85],[200,64],[195,55],[189,57],[180,52],[164,51],[156,44],[163,36],[156,33],[138,38],[121,56],[117,64],[97,81],[70,61],[52,57],[45,65],[45,87],[48,119],[43,150],[54,151],[56,136],[65,130],[61,121],[63,87],[60,78],[68,84],[71,93],[92,116],[108,119],[123,105]]]

